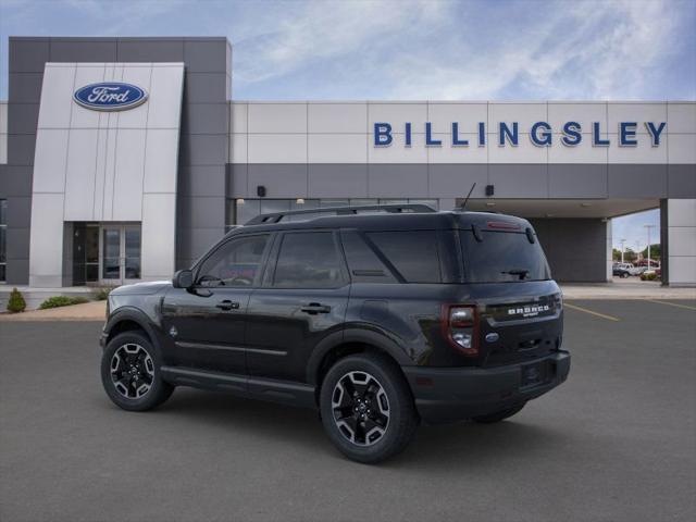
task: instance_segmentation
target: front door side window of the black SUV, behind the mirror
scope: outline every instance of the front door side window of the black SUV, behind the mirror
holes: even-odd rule
[[[251,286],[261,269],[268,235],[232,239],[210,256],[198,272],[200,286]]]

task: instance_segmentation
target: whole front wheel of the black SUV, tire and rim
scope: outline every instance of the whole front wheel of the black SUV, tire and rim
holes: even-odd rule
[[[104,349],[101,383],[117,407],[128,411],[151,410],[174,391],[174,386],[162,381],[160,365],[160,355],[144,333],[124,332]]]

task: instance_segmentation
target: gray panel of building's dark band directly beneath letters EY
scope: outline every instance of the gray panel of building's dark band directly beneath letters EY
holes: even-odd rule
[[[667,164],[609,164],[609,198],[667,197]]]

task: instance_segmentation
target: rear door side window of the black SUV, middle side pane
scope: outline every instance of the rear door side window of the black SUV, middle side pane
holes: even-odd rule
[[[276,288],[336,288],[343,283],[341,259],[333,233],[285,234],[275,265]]]

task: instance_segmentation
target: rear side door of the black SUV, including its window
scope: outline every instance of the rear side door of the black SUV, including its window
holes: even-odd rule
[[[349,288],[334,232],[288,232],[276,241],[247,311],[250,375],[303,382],[307,360],[343,328]]]

